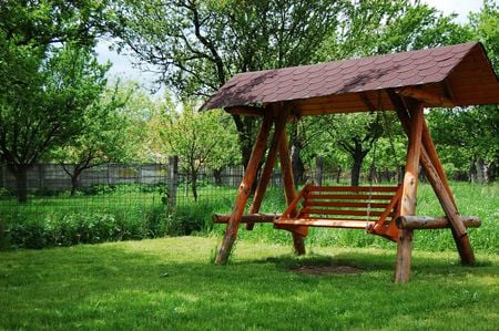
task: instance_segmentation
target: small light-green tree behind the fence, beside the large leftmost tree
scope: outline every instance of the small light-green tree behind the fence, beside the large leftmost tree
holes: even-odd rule
[[[128,134],[130,121],[123,113],[133,90],[120,89],[120,83],[118,81],[114,87],[106,89],[89,106],[80,120],[84,130],[51,153],[51,157],[61,163],[71,177],[72,196],[83,170],[109,162],[131,159],[138,149],[138,142]]]

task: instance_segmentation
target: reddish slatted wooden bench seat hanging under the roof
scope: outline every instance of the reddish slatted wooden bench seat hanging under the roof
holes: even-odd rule
[[[274,220],[274,227],[306,236],[303,227],[364,229],[397,240],[401,185],[316,186],[306,185]],[[301,205],[298,211],[297,207]]]

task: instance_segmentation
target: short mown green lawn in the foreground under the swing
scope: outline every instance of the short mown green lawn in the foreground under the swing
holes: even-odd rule
[[[415,251],[413,280],[393,283],[395,249],[179,237],[0,252],[2,330],[497,330],[499,256]],[[310,251],[310,249],[309,249]],[[301,266],[358,273],[302,275]]]

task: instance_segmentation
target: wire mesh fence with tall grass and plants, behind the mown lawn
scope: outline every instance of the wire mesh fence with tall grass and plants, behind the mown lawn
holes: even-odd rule
[[[29,168],[23,183],[28,193],[24,203],[18,201],[19,178],[23,176],[16,176],[8,165],[0,166],[0,248],[142,239],[211,229],[212,214],[232,210],[244,169],[200,168],[194,178],[180,165],[177,157],[170,157],[167,164],[104,164],[72,178],[74,165],[37,164]],[[297,174],[295,182],[299,189],[307,182],[348,185],[349,178],[340,169],[316,166]],[[361,177],[364,185],[371,182],[369,176]],[[276,167],[261,211],[281,214],[284,207],[282,175]]]

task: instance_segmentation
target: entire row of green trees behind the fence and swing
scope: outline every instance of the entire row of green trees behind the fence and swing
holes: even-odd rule
[[[108,162],[181,157],[196,197],[208,167],[248,161],[258,120],[198,113],[237,72],[302,65],[481,41],[499,71],[499,7],[485,0],[465,24],[419,1],[20,1],[0,6],[0,162],[27,200],[27,170],[40,161],[72,163],[73,190],[85,169]],[[95,44],[113,38],[166,86],[151,96],[109,81]],[[479,183],[499,176],[497,105],[427,115],[446,169]],[[472,128],[472,130],[471,130]],[[317,156],[360,174],[404,165],[405,137],[391,113],[316,116],[288,125],[297,183]]]

